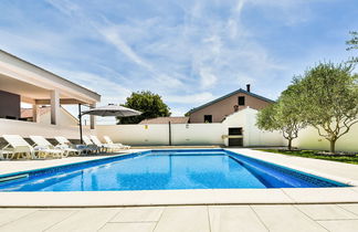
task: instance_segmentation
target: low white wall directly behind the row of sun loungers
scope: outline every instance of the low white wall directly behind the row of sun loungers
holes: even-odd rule
[[[83,135],[95,134],[95,130],[83,128]],[[64,136],[69,139],[80,139],[78,126],[63,125],[41,125],[32,122],[10,120],[0,118],[0,136],[1,135],[20,135],[29,137],[30,135],[40,135],[45,138],[54,136]]]

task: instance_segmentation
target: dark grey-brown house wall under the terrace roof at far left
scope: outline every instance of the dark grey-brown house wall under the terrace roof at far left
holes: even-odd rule
[[[20,95],[0,91],[0,118],[20,118]]]

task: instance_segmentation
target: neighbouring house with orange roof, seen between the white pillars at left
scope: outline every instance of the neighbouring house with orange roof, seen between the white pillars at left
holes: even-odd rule
[[[38,123],[50,124],[51,123],[51,107],[42,106],[39,107],[38,112]],[[28,122],[33,122],[33,110],[32,108],[21,108],[21,118]],[[66,126],[77,126],[78,119],[74,117],[70,112],[60,106],[59,123]]]

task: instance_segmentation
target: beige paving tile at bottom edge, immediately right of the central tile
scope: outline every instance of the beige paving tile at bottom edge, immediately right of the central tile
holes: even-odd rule
[[[267,231],[249,205],[209,207],[212,232]]]

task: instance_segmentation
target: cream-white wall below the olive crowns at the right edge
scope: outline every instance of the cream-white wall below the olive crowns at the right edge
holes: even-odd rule
[[[301,130],[298,138],[293,140],[293,146],[299,149],[329,150],[329,141],[320,137],[314,127]],[[358,124],[336,141],[336,150],[358,151]]]

